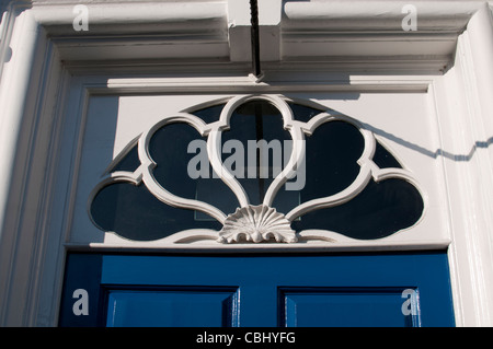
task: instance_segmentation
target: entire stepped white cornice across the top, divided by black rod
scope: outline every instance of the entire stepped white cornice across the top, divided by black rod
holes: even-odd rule
[[[73,7],[89,9],[77,32]],[[262,62],[324,62],[336,69],[428,66],[446,69],[458,36],[484,1],[415,1],[406,32],[404,1],[259,1]],[[249,62],[249,8],[239,1],[33,1],[36,22],[66,61],[154,59],[167,63]],[[403,65],[399,63],[403,62]],[[371,67],[369,67],[370,65]],[[264,65],[263,65],[264,66]]]

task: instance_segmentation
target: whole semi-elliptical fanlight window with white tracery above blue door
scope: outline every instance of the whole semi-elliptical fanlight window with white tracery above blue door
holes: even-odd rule
[[[357,120],[248,95],[152,125],[110,164],[89,211],[103,231],[134,241],[190,231],[219,243],[296,243],[382,239],[416,224],[424,200]]]

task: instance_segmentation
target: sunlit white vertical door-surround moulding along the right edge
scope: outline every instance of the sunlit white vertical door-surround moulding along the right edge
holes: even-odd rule
[[[437,85],[444,147],[463,154],[445,159],[451,232],[450,268],[457,321],[466,326],[493,323],[493,22],[488,3],[459,39],[456,63]],[[457,98],[458,101],[454,102]],[[449,121],[446,121],[448,116]],[[455,120],[455,121],[451,121]],[[472,148],[471,148],[471,144]]]

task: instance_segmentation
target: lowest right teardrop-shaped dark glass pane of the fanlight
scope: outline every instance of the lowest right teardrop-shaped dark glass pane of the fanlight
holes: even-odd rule
[[[297,231],[324,229],[359,240],[389,236],[413,225],[423,213],[423,199],[410,183],[391,178],[370,182],[351,201],[302,216],[295,221]]]

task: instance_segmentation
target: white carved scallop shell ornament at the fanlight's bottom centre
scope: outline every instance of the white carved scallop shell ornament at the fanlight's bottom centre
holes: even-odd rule
[[[275,239],[276,242],[296,243],[296,232],[291,223],[275,208],[264,205],[238,208],[229,214],[222,229],[219,231],[218,242],[266,242]]]

